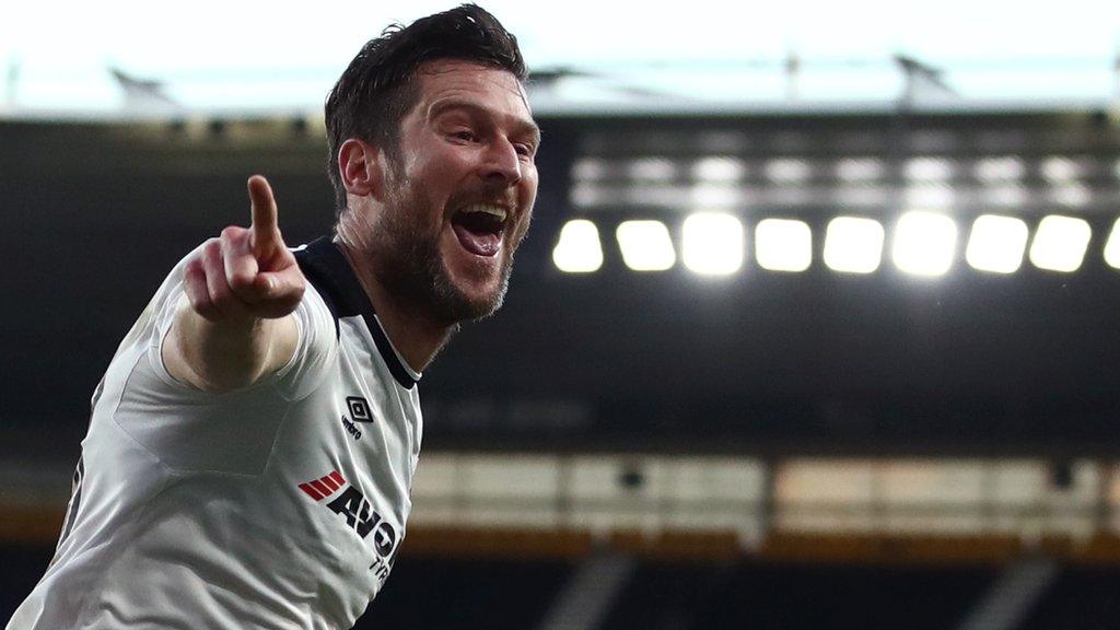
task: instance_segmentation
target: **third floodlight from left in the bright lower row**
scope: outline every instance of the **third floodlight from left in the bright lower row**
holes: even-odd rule
[[[698,212],[684,220],[681,258],[704,276],[727,276],[743,267],[743,223],[730,214]]]

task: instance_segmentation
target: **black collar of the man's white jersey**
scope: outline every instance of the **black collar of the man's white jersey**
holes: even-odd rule
[[[417,385],[416,379],[404,369],[396,352],[393,351],[385,331],[374,317],[370,296],[365,294],[357,276],[354,275],[354,269],[338,245],[328,237],[320,237],[293,253],[304,276],[315,285],[323,300],[327,303],[330,314],[335,316],[335,334],[339,332],[339,317],[361,315],[393,378],[401,387],[412,389]]]

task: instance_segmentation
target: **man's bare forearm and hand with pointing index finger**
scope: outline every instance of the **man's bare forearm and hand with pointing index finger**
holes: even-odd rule
[[[187,262],[186,297],[162,345],[176,379],[213,392],[248,387],[296,352],[291,313],[306,280],[277,225],[264,177],[249,178],[252,225],[231,225]]]

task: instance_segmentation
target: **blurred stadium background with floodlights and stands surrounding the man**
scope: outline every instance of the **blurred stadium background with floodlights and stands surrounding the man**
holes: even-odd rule
[[[6,6],[0,621],[116,344],[449,3]],[[544,130],[506,306],[424,374],[358,628],[1120,624],[1120,8],[484,4]]]

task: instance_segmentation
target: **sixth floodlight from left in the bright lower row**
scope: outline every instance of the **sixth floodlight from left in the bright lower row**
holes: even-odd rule
[[[956,223],[944,214],[913,211],[895,225],[895,266],[915,276],[942,276],[956,254]]]

